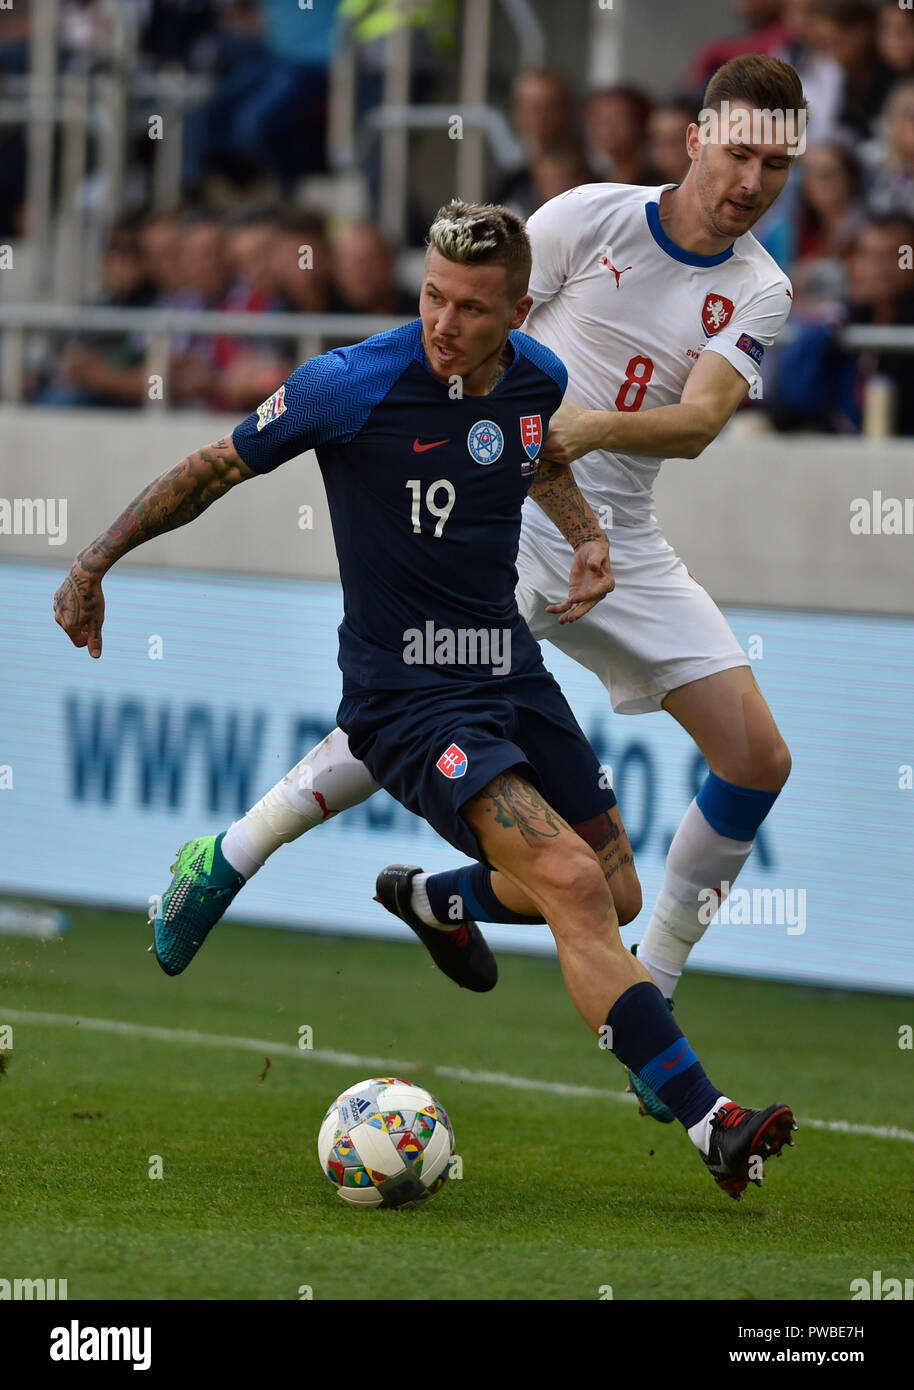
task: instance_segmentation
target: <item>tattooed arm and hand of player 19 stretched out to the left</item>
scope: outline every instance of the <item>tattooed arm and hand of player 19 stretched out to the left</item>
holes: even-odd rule
[[[193,521],[217,498],[253,477],[228,435],[150,482],[107,531],[79,552],[54,595],[54,617],[74,646],[88,646],[89,656],[101,656],[101,580],[115,560],[144,541]]]

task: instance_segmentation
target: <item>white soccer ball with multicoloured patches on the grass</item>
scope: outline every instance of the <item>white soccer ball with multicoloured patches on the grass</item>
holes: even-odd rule
[[[344,1202],[418,1207],[447,1179],[454,1131],[431,1091],[381,1076],[336,1097],[317,1152]]]

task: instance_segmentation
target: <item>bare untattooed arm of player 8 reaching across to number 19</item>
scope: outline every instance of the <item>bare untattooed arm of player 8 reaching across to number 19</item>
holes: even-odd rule
[[[582,410],[564,400],[551,417],[545,459],[574,463],[592,449],[650,459],[697,459],[736,410],[749,382],[718,352],[703,352],[675,406]]]

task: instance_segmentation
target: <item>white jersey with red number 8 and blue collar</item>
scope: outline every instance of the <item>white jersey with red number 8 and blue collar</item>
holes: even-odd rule
[[[790,281],[751,232],[720,256],[670,240],[658,203],[674,186],[583,183],[528,222],[533,307],[524,332],[563,359],[574,404],[629,411],[675,404],[703,352],[726,357],[751,386],[790,311]],[[574,471],[601,523],[640,525],[651,518],[661,463],[595,450]],[[611,513],[600,513],[607,506]],[[560,539],[529,499],[524,528],[543,542]]]

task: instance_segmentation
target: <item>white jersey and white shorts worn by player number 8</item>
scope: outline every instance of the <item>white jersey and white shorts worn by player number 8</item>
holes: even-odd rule
[[[664,188],[589,183],[533,213],[533,309],[525,332],[568,368],[568,399],[622,413],[676,404],[703,353],[758,379],[790,309],[790,282],[751,232],[720,256],[683,252],[660,222]],[[664,539],[653,513],[663,459],[583,455],[575,478],[608,525],[615,591],[560,628],[546,605],[571,552],[542,509],[524,505],[518,606],[533,635],[599,676],[618,714],[658,709],[670,691],[747,657],[722,613]]]

